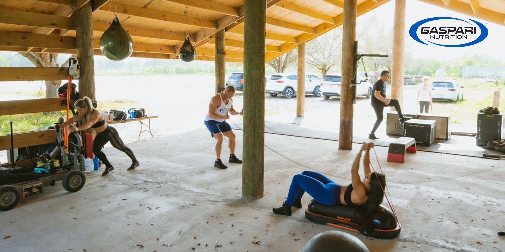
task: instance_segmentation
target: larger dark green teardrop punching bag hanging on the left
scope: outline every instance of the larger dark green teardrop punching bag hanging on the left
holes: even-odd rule
[[[100,50],[110,60],[123,60],[133,52],[133,41],[130,34],[114,18],[109,29],[100,38]]]

